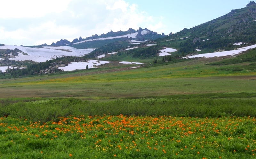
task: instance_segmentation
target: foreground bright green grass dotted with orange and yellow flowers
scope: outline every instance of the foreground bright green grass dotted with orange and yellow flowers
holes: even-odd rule
[[[253,158],[255,118],[0,118],[0,158]]]

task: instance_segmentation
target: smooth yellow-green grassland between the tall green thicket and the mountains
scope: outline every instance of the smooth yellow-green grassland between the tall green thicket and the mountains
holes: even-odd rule
[[[110,65],[110,68],[106,65],[106,68],[49,76],[2,79],[0,95],[2,98],[134,98],[247,92],[256,89],[253,87],[255,81],[252,80],[256,79],[255,70],[232,71],[233,68],[244,66],[244,63],[238,63],[236,66],[205,65],[211,61],[213,60],[202,58],[179,63],[164,62],[162,65],[146,63],[136,69],[127,69],[130,65]],[[183,69],[185,67],[187,69]],[[186,86],[188,83],[191,85]]]

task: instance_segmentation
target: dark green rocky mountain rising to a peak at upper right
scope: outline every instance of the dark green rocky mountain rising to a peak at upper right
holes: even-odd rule
[[[180,54],[196,51],[230,50],[234,43],[256,43],[256,4],[250,2],[246,7],[233,9],[228,14],[193,28],[184,28],[178,33],[158,40],[167,47],[176,47]],[[168,41],[166,41],[168,40]]]

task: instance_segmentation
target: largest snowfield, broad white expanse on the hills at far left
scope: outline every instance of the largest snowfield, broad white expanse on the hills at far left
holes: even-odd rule
[[[18,53],[18,56],[12,57],[9,60],[15,61],[36,61],[45,62],[46,60],[56,59],[56,57],[62,56],[84,56],[93,51],[93,49],[76,49],[74,47],[61,46],[61,47],[44,47],[44,48],[32,48],[32,47],[21,47],[13,45],[1,46],[0,49],[19,49],[28,55]]]

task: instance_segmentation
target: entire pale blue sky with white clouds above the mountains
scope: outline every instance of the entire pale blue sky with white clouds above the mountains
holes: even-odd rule
[[[147,28],[177,33],[244,8],[250,0],[6,0],[0,44],[33,46]]]

